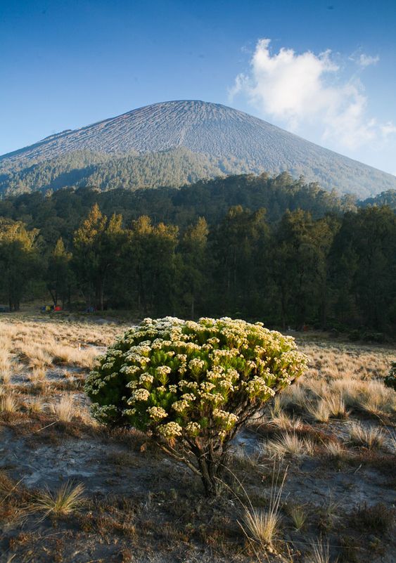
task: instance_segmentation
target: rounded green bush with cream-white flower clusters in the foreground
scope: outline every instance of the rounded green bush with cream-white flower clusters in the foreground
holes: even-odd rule
[[[262,323],[167,317],[127,330],[98,362],[85,387],[94,417],[151,434],[215,495],[230,440],[306,357]]]

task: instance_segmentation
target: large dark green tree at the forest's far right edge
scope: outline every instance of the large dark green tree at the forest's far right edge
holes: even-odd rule
[[[396,215],[389,207],[345,214],[329,260],[341,320],[378,332],[395,323],[395,257]]]

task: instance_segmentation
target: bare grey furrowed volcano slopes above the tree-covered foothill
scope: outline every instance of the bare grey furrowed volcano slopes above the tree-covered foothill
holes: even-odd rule
[[[279,127],[224,105],[170,101],[44,138],[0,157],[0,172],[13,172],[77,151],[120,157],[186,148],[217,160],[224,172],[303,174],[326,189],[360,197],[396,188],[396,177],[310,143]],[[108,156],[106,157],[108,159]],[[222,160],[226,159],[224,169]],[[235,170],[232,162],[236,162]],[[231,162],[231,165],[230,165]]]

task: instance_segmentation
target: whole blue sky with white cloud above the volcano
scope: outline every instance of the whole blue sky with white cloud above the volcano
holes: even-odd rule
[[[396,174],[395,31],[385,0],[0,0],[0,154],[200,99]]]

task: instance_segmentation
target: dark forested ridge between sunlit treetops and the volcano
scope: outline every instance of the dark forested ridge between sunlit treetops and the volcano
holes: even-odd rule
[[[233,205],[252,211],[264,207],[270,223],[279,221],[286,210],[305,209],[318,218],[357,207],[350,195],[322,190],[317,183],[306,183],[303,178],[296,181],[285,172],[275,177],[228,176],[158,190],[102,192],[98,188],[68,188],[52,194],[23,194],[0,200],[0,216],[24,221],[28,228],[39,228],[41,237],[48,242],[58,236],[71,240],[72,232],[96,202],[108,215],[122,214],[124,223],[148,215],[155,223],[171,222],[181,229],[200,216],[205,216],[209,224],[217,224]]]

